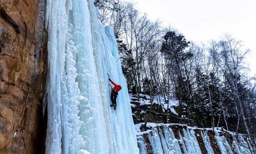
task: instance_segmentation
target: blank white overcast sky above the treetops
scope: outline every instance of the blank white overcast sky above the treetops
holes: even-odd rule
[[[122,0],[151,20],[159,19],[186,39],[204,43],[224,34],[241,40],[251,50],[247,63],[256,74],[256,0]]]

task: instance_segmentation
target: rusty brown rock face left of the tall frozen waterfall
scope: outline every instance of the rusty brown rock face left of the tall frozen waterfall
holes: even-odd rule
[[[44,8],[44,0],[0,0],[0,154],[42,153]]]

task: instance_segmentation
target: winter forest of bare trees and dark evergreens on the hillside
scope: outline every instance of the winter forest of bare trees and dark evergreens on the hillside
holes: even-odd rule
[[[224,34],[197,44],[174,27],[151,21],[133,3],[94,3],[101,22],[114,27],[128,90],[178,99],[181,123],[189,125],[189,117],[198,113],[204,127],[223,127],[255,140],[256,77],[246,64],[250,50],[239,38]]]

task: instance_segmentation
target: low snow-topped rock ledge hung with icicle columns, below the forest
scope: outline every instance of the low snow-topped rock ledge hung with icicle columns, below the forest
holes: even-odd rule
[[[181,124],[147,123],[147,129],[141,131],[143,125],[136,124],[140,154],[252,154],[245,136],[223,128],[213,131]],[[228,137],[225,134],[229,134]],[[147,144],[148,149],[143,144]]]

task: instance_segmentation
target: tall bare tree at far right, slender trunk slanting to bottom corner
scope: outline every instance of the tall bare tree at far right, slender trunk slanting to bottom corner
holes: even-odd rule
[[[255,141],[252,140],[251,132],[249,130],[246,118],[244,116],[244,111],[242,107],[242,104],[244,104],[244,102],[242,102],[243,99],[241,99],[241,94],[238,90],[239,78],[242,77],[244,73],[243,63],[244,63],[245,55],[249,52],[249,50],[242,49],[241,41],[236,41],[235,39],[232,39],[227,35],[226,35],[226,38],[222,40],[220,43],[222,46],[222,58],[225,64],[225,69],[223,69],[223,73],[225,78],[228,81],[229,86],[232,88],[234,102],[236,105],[236,110],[238,112],[238,120],[240,119],[240,116],[241,116],[246,134],[252,145],[252,151],[256,153]],[[239,122],[238,122],[238,125],[239,125]],[[237,128],[237,131],[238,131],[238,128]]]

